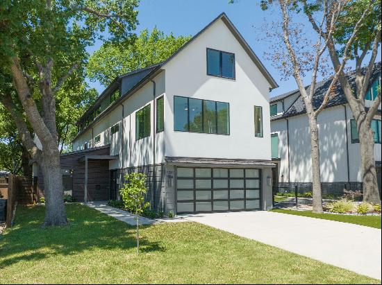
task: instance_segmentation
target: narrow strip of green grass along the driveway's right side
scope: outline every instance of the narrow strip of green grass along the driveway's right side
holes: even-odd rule
[[[291,214],[297,216],[306,216],[310,218],[322,218],[324,220],[338,221],[357,225],[365,225],[367,227],[381,228],[381,216],[352,216],[338,214],[315,214],[312,211],[294,211],[288,209],[273,209],[277,213]]]

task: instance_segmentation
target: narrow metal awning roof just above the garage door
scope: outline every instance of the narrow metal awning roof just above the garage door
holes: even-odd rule
[[[270,160],[258,159],[228,159],[228,158],[205,158],[205,157],[165,157],[165,161],[174,164],[229,164],[242,166],[276,166]]]

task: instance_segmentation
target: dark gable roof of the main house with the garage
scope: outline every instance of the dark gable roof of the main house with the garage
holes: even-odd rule
[[[128,78],[128,77],[133,77],[133,75],[138,74],[138,73],[145,73],[145,75],[143,77],[139,77],[138,78],[139,80],[137,80],[137,82],[132,82],[131,84],[129,84],[131,87],[126,92],[124,92],[124,94],[121,94],[121,96],[116,101],[114,101],[112,104],[110,104],[106,108],[106,110],[104,110],[101,114],[99,114],[99,116],[97,116],[97,118],[94,119],[94,121],[92,121],[92,123],[90,123],[86,128],[84,128],[81,132],[79,132],[76,135],[76,137],[74,137],[74,139],[72,141],[74,141],[83,132],[88,130],[90,128],[90,126],[94,125],[94,123],[96,121],[98,121],[99,119],[101,119],[102,116],[104,116],[104,115],[108,114],[108,112],[114,110],[114,108],[117,105],[119,105],[119,103],[121,101],[123,101],[125,98],[127,98],[127,96],[132,95],[133,92],[136,92],[138,89],[140,89],[140,87],[142,87],[145,83],[147,83],[149,81],[149,79],[154,74],[156,74],[157,71],[160,70],[161,67],[163,67],[167,62],[169,62],[170,60],[175,58],[176,55],[178,55],[178,53],[181,53],[181,51],[183,51],[189,44],[194,42],[194,40],[196,40],[197,37],[199,37],[199,35],[204,33],[204,31],[206,31],[210,26],[215,24],[216,21],[219,21],[219,19],[221,19],[224,22],[224,24],[226,24],[227,28],[229,28],[229,31],[231,31],[231,33],[233,33],[235,39],[238,40],[238,42],[240,43],[240,45],[242,46],[244,51],[246,51],[247,54],[249,55],[249,58],[251,58],[251,60],[256,65],[256,67],[258,67],[258,69],[261,72],[261,74],[263,74],[263,76],[267,79],[267,81],[268,81],[269,85],[271,86],[271,88],[274,89],[276,87],[279,87],[279,85],[277,85],[277,83],[274,80],[274,78],[272,78],[272,76],[269,74],[269,71],[267,71],[267,69],[264,67],[263,63],[260,61],[260,59],[254,53],[254,51],[251,49],[249,44],[244,40],[244,37],[242,37],[242,35],[239,33],[238,29],[235,28],[235,26],[233,26],[231,20],[229,19],[229,17],[227,17],[226,13],[222,12],[222,14],[220,14],[215,19],[213,19],[213,21],[211,21],[210,24],[205,26],[203,29],[201,29],[201,31],[199,31],[199,33],[194,35],[188,42],[183,44],[183,46],[181,46],[181,48],[178,49],[178,51],[176,51],[171,56],[169,56],[169,58],[167,58],[167,60],[165,60],[163,62],[160,62],[158,64],[153,64],[153,65],[151,65],[149,67],[145,67],[143,69],[138,69],[138,70],[135,70],[135,71],[131,71],[128,74],[124,74],[122,76],[118,76],[117,78],[115,78],[113,80],[113,82],[110,83],[110,85],[108,87],[106,87],[106,89],[101,93],[101,95],[97,98],[97,100],[94,102],[94,104],[91,107],[89,107],[88,110],[86,110],[86,112],[80,117],[80,119],[78,119],[78,121],[76,122],[77,125],[79,123],[81,123],[82,121],[84,121],[85,118],[89,114],[91,114],[92,111],[97,107],[97,105],[99,105],[99,103],[101,103],[101,101],[104,98],[106,98],[106,96],[110,95],[112,92],[115,91],[115,89],[119,86],[119,83],[122,82],[122,79]]]

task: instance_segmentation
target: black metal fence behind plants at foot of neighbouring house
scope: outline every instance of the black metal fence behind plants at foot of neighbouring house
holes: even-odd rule
[[[321,183],[323,200],[339,200],[349,198],[362,200],[362,182],[331,182]],[[281,182],[273,187],[274,205],[280,203],[310,204],[313,198],[313,184],[311,182]]]

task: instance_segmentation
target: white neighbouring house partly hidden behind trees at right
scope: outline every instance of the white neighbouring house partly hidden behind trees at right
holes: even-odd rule
[[[348,75],[353,87],[354,73]],[[317,83],[313,105],[321,105],[331,79]],[[381,84],[381,62],[374,65],[370,88],[365,96],[365,105],[371,106]],[[309,89],[309,87],[308,87]],[[272,161],[274,184],[285,186],[285,182],[311,182],[310,134],[308,116],[299,90],[294,90],[270,99]],[[362,182],[360,148],[356,121],[342,92],[336,85],[327,107],[319,114],[319,156],[321,181],[324,187],[331,184]],[[381,189],[381,105],[372,121],[374,130],[374,155]],[[358,183],[358,189],[360,183]]]

